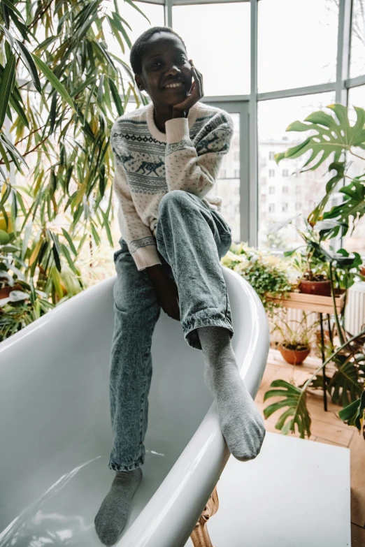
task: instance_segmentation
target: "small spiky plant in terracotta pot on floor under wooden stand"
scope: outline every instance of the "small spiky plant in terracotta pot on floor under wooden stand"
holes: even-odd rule
[[[273,332],[278,330],[282,335],[282,340],[278,344],[282,358],[290,365],[301,365],[310,353],[310,339],[317,330],[319,321],[308,326],[306,312],[303,312],[301,321],[291,323],[292,326],[285,319],[278,319]]]

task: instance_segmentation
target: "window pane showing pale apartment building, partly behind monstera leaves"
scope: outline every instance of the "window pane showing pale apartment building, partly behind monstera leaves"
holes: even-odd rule
[[[265,2],[266,0],[260,0]],[[297,3],[297,2],[295,2]],[[335,94],[332,92],[315,95],[302,95],[296,97],[288,97],[286,99],[273,99],[267,101],[259,101],[258,104],[258,142],[259,142],[259,156],[269,157],[270,152],[274,154],[285,152],[288,148],[292,148],[299,143],[303,143],[308,135],[312,134],[309,131],[301,131],[296,133],[294,131],[286,132],[285,129],[289,124],[298,119],[303,121],[311,112],[316,110],[327,111],[326,106],[335,102]],[[362,101],[364,103],[364,101]],[[361,105],[362,103],[359,103]],[[284,141],[283,136],[287,136],[289,140]],[[284,170],[287,173],[299,172],[304,163],[310,158],[310,151],[303,156],[299,156],[295,159],[282,159],[278,168],[279,174]],[[278,191],[275,193],[275,205],[274,210],[271,212],[271,217],[265,214],[259,215],[259,247],[270,247],[270,241],[267,239],[267,232],[271,222],[278,222],[282,220],[282,213],[293,211],[296,207],[295,203],[300,203],[301,208],[296,209],[296,213],[301,213],[301,217],[298,219],[299,229],[304,229],[304,218],[308,217],[310,211],[313,210],[311,205],[312,201],[318,203],[322,196],[324,196],[326,184],[331,178],[327,173],[329,164],[333,161],[333,155],[330,155],[326,161],[317,168],[314,172],[307,171],[306,173],[299,173],[296,179],[296,184],[293,189],[290,189],[289,184],[280,184]],[[309,166],[313,166],[314,163],[310,163]],[[266,168],[259,166],[259,196],[261,195],[261,187],[264,177],[269,174],[272,177],[271,171],[275,173],[278,168],[270,170],[267,173]],[[313,174],[315,175],[313,177]],[[273,186],[273,180],[269,182],[268,186]],[[279,180],[278,180],[279,182]],[[285,182],[285,181],[283,181]],[[268,195],[270,190],[268,191]],[[289,195],[294,194],[296,199],[293,200],[293,205],[289,204]],[[271,199],[272,200],[272,199]],[[259,208],[261,210],[261,208]],[[365,238],[364,238],[365,240]],[[292,248],[297,243],[301,242],[301,239],[296,232],[295,228],[290,225],[280,230],[280,246],[282,249]]]

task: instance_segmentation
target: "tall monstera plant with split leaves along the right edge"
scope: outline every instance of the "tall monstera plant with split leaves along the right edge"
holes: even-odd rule
[[[362,150],[365,151],[365,110],[355,107],[357,121],[354,126],[350,126],[347,108],[340,104],[329,105],[327,108],[334,115],[322,111],[313,112],[304,122],[296,121],[290,124],[287,131],[313,129],[315,134],[306,138],[300,145],[289,148],[282,154],[276,154],[275,160],[279,163],[283,159],[296,158],[310,151],[308,161],[301,168],[301,172],[304,172],[315,170],[325,159],[333,155],[329,171],[335,170],[336,175],[327,182],[326,194],[310,212],[308,224],[319,235],[317,241],[313,241],[312,244],[317,256],[329,264],[334,295],[336,286],[342,286],[347,290],[355,282],[361,263],[358,254],[350,254],[345,249],[336,251],[331,246],[325,247],[323,242],[352,233],[356,230],[359,219],[365,214],[365,152],[362,153]],[[364,162],[364,173],[353,178],[348,175],[347,154],[357,156]],[[338,189],[338,184],[343,180],[345,184]],[[342,203],[328,207],[330,198],[336,191],[343,196]],[[336,372],[327,385],[327,391],[332,402],[345,407],[338,412],[338,416],[349,425],[355,425],[359,431],[362,430],[365,439],[365,330],[360,333],[348,333],[344,328],[344,322],[338,318],[336,306],[334,315],[339,347],[301,386],[277,379],[271,383],[271,389],[264,395],[264,400],[271,397],[280,398],[278,402],[264,409],[265,418],[269,418],[278,409],[286,409],[275,424],[275,428],[284,434],[295,432],[297,428],[302,438],[305,435],[310,437],[306,389],[322,386],[320,371],[331,362],[336,365]]]

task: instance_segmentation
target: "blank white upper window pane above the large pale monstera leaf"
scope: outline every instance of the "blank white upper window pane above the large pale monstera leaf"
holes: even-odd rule
[[[335,0],[259,1],[260,93],[336,80],[336,4]]]

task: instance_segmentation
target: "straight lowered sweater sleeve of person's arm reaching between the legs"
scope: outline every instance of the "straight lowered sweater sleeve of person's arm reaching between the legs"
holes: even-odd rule
[[[161,264],[150,228],[143,223],[134,207],[124,169],[119,161],[115,163],[113,188],[119,201],[122,237],[138,270]]]

